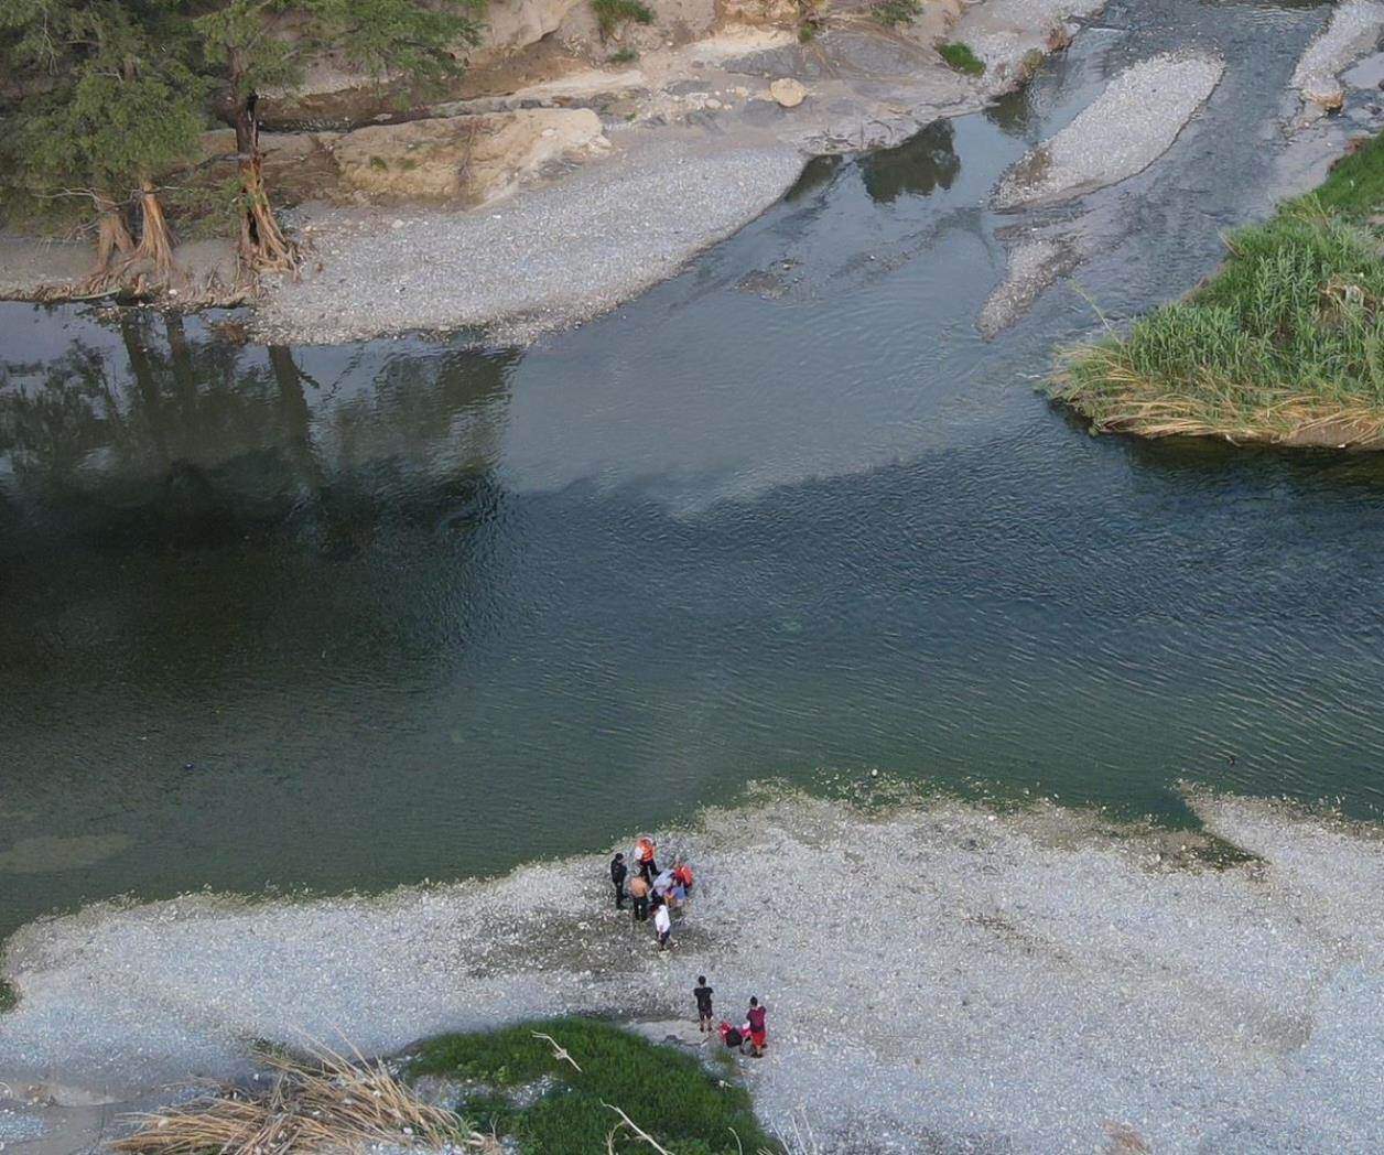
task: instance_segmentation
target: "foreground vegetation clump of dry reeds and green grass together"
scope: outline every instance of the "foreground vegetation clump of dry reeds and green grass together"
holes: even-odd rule
[[[357,1147],[498,1155],[782,1155],[722,1059],[703,1065],[606,1022],[556,1018],[425,1040],[397,1064],[266,1047],[256,1087],[134,1118],[126,1155],[273,1155]],[[717,1071],[724,1062],[724,1069]],[[421,1080],[441,1080],[440,1095]],[[453,1107],[457,1083],[471,1086]]]

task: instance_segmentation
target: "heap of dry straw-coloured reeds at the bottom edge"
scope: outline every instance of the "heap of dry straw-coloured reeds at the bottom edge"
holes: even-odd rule
[[[130,1155],[288,1155],[353,1151],[371,1144],[422,1151],[498,1152],[491,1136],[459,1115],[419,1100],[385,1066],[320,1048],[302,1062],[266,1054],[263,1091],[223,1087],[216,1094],[134,1116],[131,1136],[113,1144]]]

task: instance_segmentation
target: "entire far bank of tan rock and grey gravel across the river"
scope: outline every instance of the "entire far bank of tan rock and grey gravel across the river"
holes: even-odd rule
[[[270,186],[306,260],[260,284],[266,339],[324,343],[417,328],[495,325],[523,339],[608,310],[671,276],[781,197],[811,155],[898,144],[977,111],[1064,46],[1100,0],[930,0],[908,24],[836,4],[808,39],[782,0],[656,0],[652,26],[608,42],[574,0],[495,4],[464,98],[424,119],[336,127],[350,76],[324,71],[270,112]],[[938,46],[970,47],[969,76]],[[304,129],[320,122],[328,127]],[[209,155],[233,144],[208,137]],[[0,292],[61,296],[75,242],[0,238]],[[227,245],[179,253],[224,302]]]

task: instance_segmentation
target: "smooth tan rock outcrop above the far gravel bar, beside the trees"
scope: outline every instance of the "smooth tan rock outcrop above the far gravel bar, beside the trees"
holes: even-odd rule
[[[371,125],[332,154],[343,184],[375,199],[484,204],[552,161],[609,147],[590,108],[531,108]]]

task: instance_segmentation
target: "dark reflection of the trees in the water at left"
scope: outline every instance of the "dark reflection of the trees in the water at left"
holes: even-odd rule
[[[436,507],[495,463],[513,355],[393,359],[336,402],[286,348],[191,339],[176,314],[118,327],[125,364],[78,343],[0,366],[10,504],[46,530],[165,546],[286,530],[350,553],[381,515]]]

